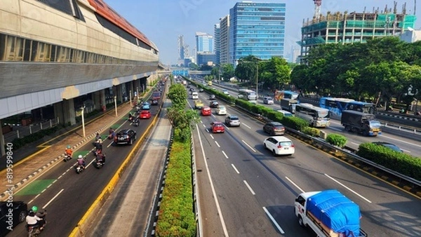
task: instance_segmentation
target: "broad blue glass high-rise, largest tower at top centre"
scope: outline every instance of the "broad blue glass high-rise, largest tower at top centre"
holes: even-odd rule
[[[283,57],[286,4],[244,1],[229,10],[229,61]]]

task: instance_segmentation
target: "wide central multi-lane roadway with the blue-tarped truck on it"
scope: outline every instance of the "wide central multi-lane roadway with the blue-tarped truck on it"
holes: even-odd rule
[[[199,98],[207,104],[206,93],[199,93]],[[189,103],[193,105],[192,100]],[[206,202],[215,201],[215,206],[220,206],[220,222],[223,219],[227,236],[314,236],[299,226],[293,203],[302,191],[323,189],[338,189],[359,204],[361,228],[368,236],[421,233],[419,198],[293,137],[295,154],[274,157],[262,146],[267,137],[262,133],[262,123],[227,108],[229,114],[239,116],[239,128],[209,133],[212,121],[225,118],[213,114],[202,116],[194,131],[195,139],[201,141],[196,146],[203,147],[217,197],[208,196]]]

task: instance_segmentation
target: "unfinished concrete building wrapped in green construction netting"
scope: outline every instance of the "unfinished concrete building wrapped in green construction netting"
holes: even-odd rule
[[[326,15],[317,9],[312,20],[303,20],[301,28],[300,57],[303,59],[309,50],[322,43],[354,43],[366,42],[384,36],[398,36],[415,25],[415,15],[406,13],[406,4],[402,13],[397,13],[396,2],[394,8],[380,11],[373,8],[373,13],[330,13]],[[415,12],[415,10],[414,10]],[[408,28],[410,27],[410,28]]]

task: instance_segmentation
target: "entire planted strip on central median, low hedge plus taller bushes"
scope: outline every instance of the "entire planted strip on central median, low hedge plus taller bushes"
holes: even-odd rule
[[[168,90],[172,105],[168,119],[174,129],[165,187],[162,193],[159,217],[155,233],[160,237],[196,236],[194,194],[192,186],[192,122],[199,116],[187,106],[187,91],[181,84],[173,84]]]

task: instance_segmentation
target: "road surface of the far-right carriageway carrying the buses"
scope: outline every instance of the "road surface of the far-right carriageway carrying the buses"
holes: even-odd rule
[[[215,86],[218,87],[218,86]],[[217,88],[218,89],[218,88]],[[235,91],[229,90],[229,94],[233,97],[237,97],[238,93]],[[263,104],[262,98],[258,100],[258,104],[270,107],[272,109],[281,109],[279,104]],[[377,117],[380,117],[376,115]],[[415,121],[407,121],[400,118],[392,118],[389,116],[382,116],[382,118],[390,118],[393,121],[399,120],[401,123],[419,123]],[[344,130],[344,127],[340,124],[339,120],[330,119],[330,127],[322,128],[321,130],[326,131],[326,133],[337,133],[341,135],[345,135],[347,137],[347,147],[352,149],[358,149],[359,144],[364,142],[389,142],[392,144],[396,144],[399,148],[403,150],[404,153],[410,154],[411,156],[421,157],[421,134],[420,133],[411,133],[408,130],[399,130],[397,128],[391,127],[382,127],[382,135],[378,135],[377,137],[364,137],[361,134],[350,133]]]

